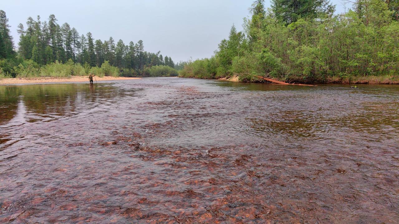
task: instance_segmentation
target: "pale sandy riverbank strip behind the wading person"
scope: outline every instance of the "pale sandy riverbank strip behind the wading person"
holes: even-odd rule
[[[97,81],[140,79],[136,77],[95,77]],[[71,78],[35,77],[35,78],[7,78],[0,79],[0,85],[29,84],[29,83],[85,83],[89,82],[88,76],[71,76]],[[94,81],[95,82],[95,81]]]

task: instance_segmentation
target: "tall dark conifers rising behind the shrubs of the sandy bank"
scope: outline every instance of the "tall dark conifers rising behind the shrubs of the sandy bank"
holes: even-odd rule
[[[0,68],[3,73],[16,75],[13,67],[27,64],[36,67],[52,63],[66,63],[72,61],[83,67],[101,67],[105,61],[117,67],[123,75],[141,75],[145,68],[152,66],[168,66],[174,69],[171,57],[163,56],[160,51],[150,53],[144,51],[142,40],[127,45],[113,37],[108,40],[94,39],[88,32],[79,34],[68,23],[61,26],[51,14],[47,21],[41,21],[40,16],[34,20],[29,17],[26,27],[18,25],[18,50],[14,51],[14,41],[6,13],[0,10]],[[25,62],[25,61],[32,61]]]

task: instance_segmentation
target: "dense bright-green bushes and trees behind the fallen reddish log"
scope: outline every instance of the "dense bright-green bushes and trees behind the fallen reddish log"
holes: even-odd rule
[[[356,0],[334,14],[328,0],[257,0],[243,31],[233,25],[209,59],[190,61],[181,77],[253,75],[291,82],[399,83],[399,1]]]

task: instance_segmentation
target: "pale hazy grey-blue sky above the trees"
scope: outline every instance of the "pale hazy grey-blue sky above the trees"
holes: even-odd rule
[[[6,12],[16,46],[18,24],[26,28],[29,16],[36,20],[40,15],[43,22],[54,14],[58,24],[67,22],[79,34],[90,31],[95,39],[104,41],[112,36],[115,43],[122,39],[125,44],[141,39],[146,51],[161,51],[178,62],[213,55],[232,24],[242,29],[254,0],[1,1],[0,10]],[[337,13],[344,12],[340,0],[331,2],[336,4]],[[265,0],[265,6],[270,6],[269,0]]]

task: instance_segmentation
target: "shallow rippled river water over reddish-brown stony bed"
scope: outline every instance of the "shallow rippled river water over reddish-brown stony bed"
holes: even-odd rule
[[[399,86],[0,86],[0,223],[399,223]]]

